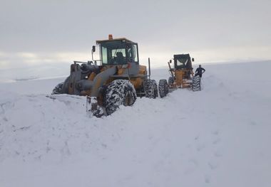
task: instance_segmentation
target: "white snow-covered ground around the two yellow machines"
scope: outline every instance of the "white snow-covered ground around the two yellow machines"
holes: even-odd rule
[[[1,83],[0,186],[269,187],[271,62],[203,68],[201,92],[101,119],[84,97],[46,97],[64,78]]]

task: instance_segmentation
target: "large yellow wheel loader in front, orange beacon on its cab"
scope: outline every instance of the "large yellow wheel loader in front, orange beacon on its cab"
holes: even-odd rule
[[[94,60],[97,47],[100,59]],[[139,64],[138,43],[109,35],[107,40],[96,41],[92,60],[74,61],[70,75],[53,89],[52,94],[86,96],[87,111],[96,117],[110,115],[120,105],[133,105],[137,96],[158,97],[157,84],[150,80],[150,59],[149,75],[147,67]]]

